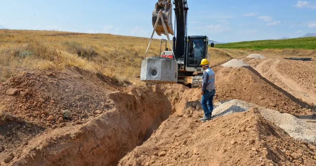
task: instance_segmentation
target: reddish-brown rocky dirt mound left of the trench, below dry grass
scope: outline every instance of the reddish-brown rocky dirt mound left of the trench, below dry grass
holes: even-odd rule
[[[98,79],[96,79],[98,78]],[[0,85],[1,111],[43,127],[80,124],[112,107],[110,92],[124,89],[112,78],[70,68],[25,73]]]

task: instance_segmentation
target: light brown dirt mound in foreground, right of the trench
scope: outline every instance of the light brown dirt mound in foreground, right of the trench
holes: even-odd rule
[[[193,108],[173,115],[119,166],[140,165],[314,165],[315,146],[301,144],[270,124],[258,110],[221,116],[206,123]],[[181,115],[178,115],[181,116]]]

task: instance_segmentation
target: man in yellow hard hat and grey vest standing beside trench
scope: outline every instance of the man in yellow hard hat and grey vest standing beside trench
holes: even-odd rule
[[[213,98],[215,95],[215,73],[209,67],[210,62],[207,59],[202,59],[202,68],[205,70],[203,72],[203,83],[202,83],[202,100],[201,105],[204,110],[204,118],[201,121],[211,120],[213,112]]]

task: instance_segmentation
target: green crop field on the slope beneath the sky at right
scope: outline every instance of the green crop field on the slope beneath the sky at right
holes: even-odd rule
[[[210,46],[210,45],[209,45]],[[243,41],[227,44],[215,44],[216,48],[225,49],[316,49],[316,37],[283,39],[283,40],[258,40],[258,41]]]

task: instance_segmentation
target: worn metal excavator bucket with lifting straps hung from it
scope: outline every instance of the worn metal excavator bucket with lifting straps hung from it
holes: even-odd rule
[[[155,23],[157,21],[159,11],[162,11],[163,20],[167,26],[168,33],[174,35],[173,27],[172,27],[172,3],[171,0],[158,0],[156,3],[155,9],[153,11],[152,24],[155,27]],[[156,28],[156,33],[161,36],[161,34],[165,34],[165,31],[162,26],[161,20],[158,22],[158,26]]]

